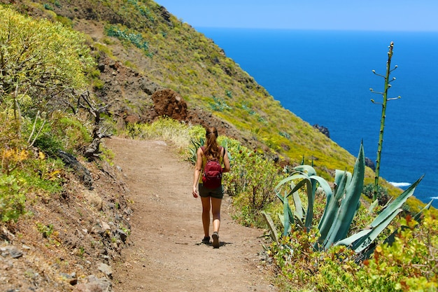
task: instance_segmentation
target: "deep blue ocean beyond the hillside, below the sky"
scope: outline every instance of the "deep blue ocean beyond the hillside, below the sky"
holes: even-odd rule
[[[353,32],[197,28],[285,109],[357,156],[376,162],[388,46],[394,54],[380,174],[438,207],[438,32]]]

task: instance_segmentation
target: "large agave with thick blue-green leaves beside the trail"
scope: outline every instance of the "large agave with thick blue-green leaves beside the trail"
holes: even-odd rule
[[[325,193],[326,205],[323,216],[318,224],[320,236],[314,245],[315,249],[328,249],[333,245],[346,245],[357,253],[367,249],[388,224],[393,221],[395,216],[402,211],[400,207],[406,202],[408,197],[414,194],[416,186],[423,177],[413,183],[411,187],[405,190],[392,203],[388,204],[368,228],[346,238],[353,218],[360,206],[364,176],[365,153],[363,144],[360,145],[353,174],[346,171],[336,171],[333,191],[325,179],[316,175],[313,167],[309,165],[294,167],[294,172],[288,178],[278,183],[275,188],[277,197],[283,202],[283,214],[279,215],[284,226],[283,236],[288,235],[291,225],[302,226],[307,232],[311,230],[313,202],[316,187],[319,186]],[[297,193],[303,186],[306,186],[308,201],[306,211]],[[290,208],[289,197],[292,197],[292,202],[295,205],[295,211],[293,212]],[[267,219],[268,224],[271,225],[272,220],[269,214],[264,214],[264,217]],[[270,226],[270,228],[273,232],[276,230],[274,226]]]

